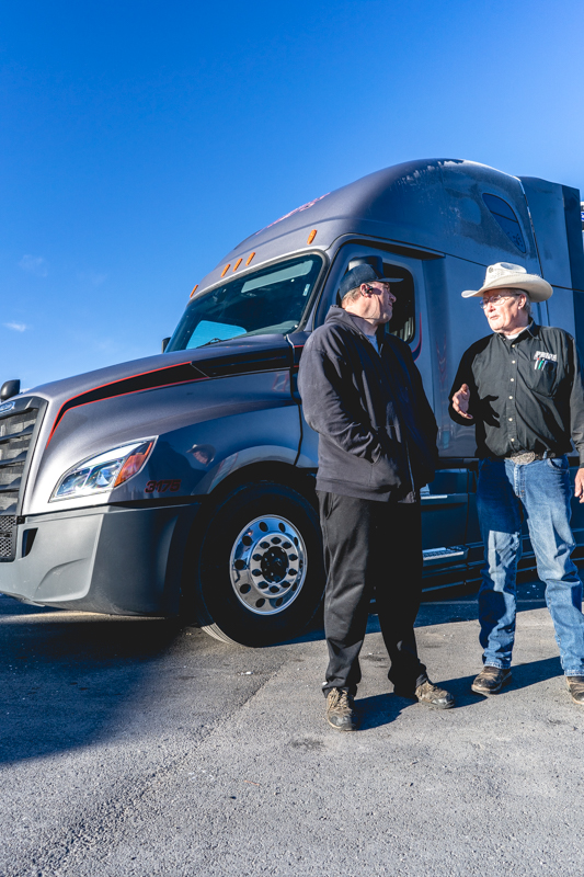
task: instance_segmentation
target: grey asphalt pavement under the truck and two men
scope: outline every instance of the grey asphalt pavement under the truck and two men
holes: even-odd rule
[[[584,708],[541,588],[491,698],[476,599],[430,597],[420,651],[457,707],[390,693],[371,615],[356,733],[324,720],[318,627],[243,649],[0,597],[0,875],[581,877]]]

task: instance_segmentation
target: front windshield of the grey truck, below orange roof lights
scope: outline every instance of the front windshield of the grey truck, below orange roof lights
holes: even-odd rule
[[[214,341],[293,332],[322,267],[317,253],[278,262],[216,286],[190,301],[167,351]]]

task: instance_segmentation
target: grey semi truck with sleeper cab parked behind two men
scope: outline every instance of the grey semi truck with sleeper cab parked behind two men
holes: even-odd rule
[[[489,328],[460,292],[480,288],[489,264],[520,264],[553,286],[536,321],[582,341],[580,193],[428,159],[321,195],[243,240],[195,286],[162,353],[22,394],[3,385],[0,592],[76,611],[185,612],[247,646],[297,635],[324,586],[318,435],[298,364],[363,262],[400,281],[387,331],[410,344],[438,423],[438,470],[421,494],[424,588],[479,581],[474,435],[450,420],[448,392]],[[577,557],[580,504],[573,525]],[[529,570],[527,532],[524,542]],[[388,555],[388,576],[391,565]]]

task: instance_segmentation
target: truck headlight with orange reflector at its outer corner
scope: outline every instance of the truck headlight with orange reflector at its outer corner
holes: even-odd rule
[[[59,478],[50,501],[88,497],[119,487],[138,475],[154,443],[154,438],[145,438],[79,463]]]

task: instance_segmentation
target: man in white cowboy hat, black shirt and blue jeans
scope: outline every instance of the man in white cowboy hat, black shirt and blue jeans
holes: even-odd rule
[[[584,705],[582,583],[570,559],[574,539],[566,458],[572,441],[581,466],[575,496],[584,502],[584,387],[574,339],[531,318],[531,303],[551,294],[542,277],[508,262],[490,265],[483,286],[462,293],[463,298],[482,298],[493,332],[463,354],[450,391],[450,417],[474,425],[480,458],[483,669],[472,691],[495,694],[511,681],[525,512],[568,690],[574,703]]]

